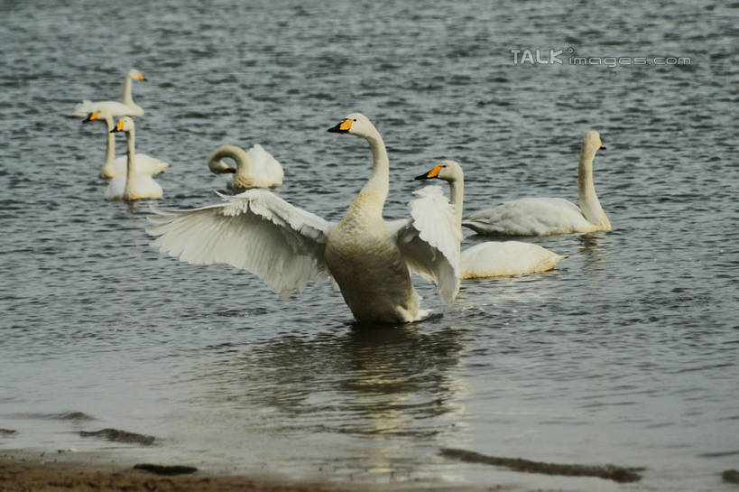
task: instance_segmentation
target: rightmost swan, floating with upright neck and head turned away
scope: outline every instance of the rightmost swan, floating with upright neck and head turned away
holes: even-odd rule
[[[600,135],[591,130],[585,134],[577,168],[577,192],[580,207],[559,198],[524,198],[507,201],[493,209],[485,209],[462,222],[478,234],[500,236],[546,236],[571,232],[611,230],[611,222],[600,206],[593,185],[593,159],[599,149],[605,150]]]

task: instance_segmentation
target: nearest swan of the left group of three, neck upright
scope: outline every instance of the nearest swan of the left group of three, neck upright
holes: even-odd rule
[[[151,176],[136,174],[136,132],[134,120],[124,116],[111,130],[112,133],[125,132],[127,169],[125,175],[113,178],[106,188],[107,200],[139,200],[162,198],[162,187]]]

